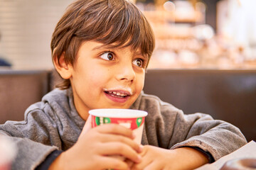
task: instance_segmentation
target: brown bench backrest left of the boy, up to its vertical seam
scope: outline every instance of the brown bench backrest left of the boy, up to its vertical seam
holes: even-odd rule
[[[0,124],[24,120],[26,108],[49,91],[48,71],[0,71]]]

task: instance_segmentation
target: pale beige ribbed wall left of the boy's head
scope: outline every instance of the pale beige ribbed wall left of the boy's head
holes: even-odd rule
[[[53,67],[50,39],[72,0],[0,0],[0,56],[16,69]]]

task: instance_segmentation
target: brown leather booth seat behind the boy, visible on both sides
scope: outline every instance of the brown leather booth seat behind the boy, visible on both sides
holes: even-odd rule
[[[0,69],[0,123],[23,120],[60,79],[55,72]],[[148,69],[144,91],[184,113],[208,113],[256,140],[256,70]]]

